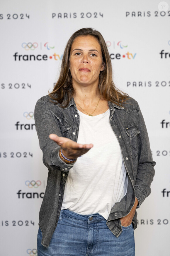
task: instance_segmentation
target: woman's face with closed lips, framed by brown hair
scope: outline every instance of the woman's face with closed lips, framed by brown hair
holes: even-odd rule
[[[78,36],[69,57],[69,67],[74,85],[97,85],[103,70],[100,44],[94,36]]]

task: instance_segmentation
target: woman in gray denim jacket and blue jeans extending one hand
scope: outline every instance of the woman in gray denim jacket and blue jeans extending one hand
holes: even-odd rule
[[[135,255],[136,208],[151,192],[155,162],[140,108],[115,88],[98,31],[70,37],[35,125],[49,170],[38,255]]]

